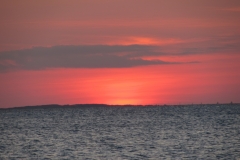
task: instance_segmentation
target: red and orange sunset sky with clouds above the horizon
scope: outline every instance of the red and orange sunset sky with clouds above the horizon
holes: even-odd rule
[[[0,108],[240,102],[239,0],[3,0]]]

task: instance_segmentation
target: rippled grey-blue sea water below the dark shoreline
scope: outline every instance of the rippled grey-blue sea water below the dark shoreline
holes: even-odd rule
[[[0,110],[0,159],[239,159],[240,105]]]

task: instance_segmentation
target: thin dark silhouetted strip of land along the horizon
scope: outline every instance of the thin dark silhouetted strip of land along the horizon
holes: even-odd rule
[[[49,109],[49,108],[96,108],[96,107],[201,107],[201,106],[240,106],[240,103],[216,103],[216,104],[180,104],[180,105],[108,105],[108,104],[73,104],[73,105],[36,105],[36,106],[23,106],[13,108],[0,108],[0,109]]]

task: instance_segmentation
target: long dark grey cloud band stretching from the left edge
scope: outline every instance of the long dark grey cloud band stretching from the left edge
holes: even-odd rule
[[[124,68],[170,64],[160,60],[136,59],[133,55],[154,54],[155,46],[80,45],[35,47],[0,53],[0,71],[47,68]]]

